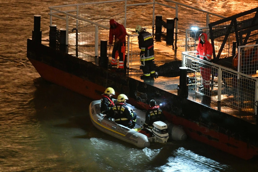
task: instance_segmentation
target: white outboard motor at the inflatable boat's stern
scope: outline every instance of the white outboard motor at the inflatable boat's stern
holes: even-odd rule
[[[166,143],[169,139],[168,126],[162,121],[153,123],[152,133],[156,137],[155,142]]]

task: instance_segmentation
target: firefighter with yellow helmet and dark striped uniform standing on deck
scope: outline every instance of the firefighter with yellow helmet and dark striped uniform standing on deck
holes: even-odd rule
[[[154,60],[154,41],[149,32],[146,29],[142,28],[140,25],[137,25],[135,28],[136,34],[138,36],[138,44],[140,52],[140,61],[143,75],[141,79],[153,79],[158,77],[158,72],[155,71]]]

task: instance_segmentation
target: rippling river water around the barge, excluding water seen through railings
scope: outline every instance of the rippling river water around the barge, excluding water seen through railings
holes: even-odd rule
[[[180,2],[222,16],[258,4],[241,1]],[[42,15],[41,30],[48,35],[48,6],[82,2],[0,0],[1,172],[258,171],[257,160],[244,161],[191,139],[138,149],[105,136],[90,122],[92,100],[43,81],[26,57],[33,15]]]

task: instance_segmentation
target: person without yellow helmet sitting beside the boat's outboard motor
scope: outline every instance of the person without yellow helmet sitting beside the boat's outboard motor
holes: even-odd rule
[[[142,128],[152,129],[154,122],[165,121],[165,120],[166,120],[166,118],[163,115],[162,110],[157,107],[156,101],[151,100],[150,107],[149,107],[149,109],[147,109],[147,112],[145,115],[145,122],[144,122]]]

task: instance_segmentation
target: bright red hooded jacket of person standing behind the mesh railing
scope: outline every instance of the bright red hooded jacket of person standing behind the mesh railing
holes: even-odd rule
[[[204,35],[205,43],[202,42],[201,35]],[[208,41],[208,36],[206,33],[200,34],[199,43],[196,50],[197,50],[196,55],[200,56],[200,59],[207,60],[207,61],[211,60],[213,48],[211,43]]]

